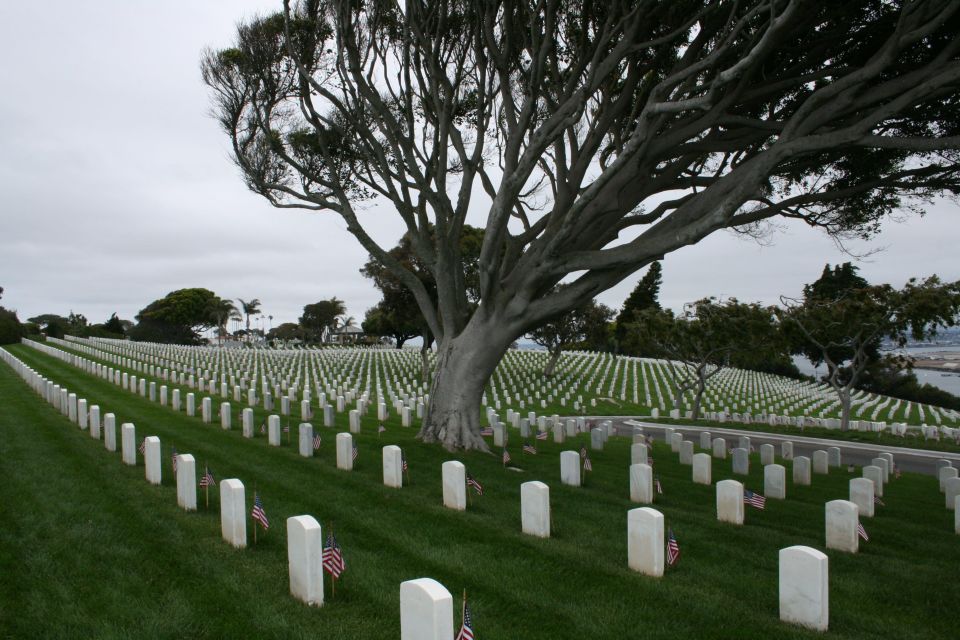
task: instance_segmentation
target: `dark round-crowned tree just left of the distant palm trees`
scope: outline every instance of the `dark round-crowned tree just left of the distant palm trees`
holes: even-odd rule
[[[214,310],[220,298],[209,289],[190,288],[171,291],[154,300],[137,314],[137,326],[130,332],[133,340],[176,344],[200,342],[200,332],[216,326]]]

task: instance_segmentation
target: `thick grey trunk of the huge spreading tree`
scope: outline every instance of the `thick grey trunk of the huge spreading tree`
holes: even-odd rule
[[[480,436],[480,399],[513,338],[497,322],[474,316],[460,335],[440,345],[419,438],[439,442],[449,451],[489,451]]]

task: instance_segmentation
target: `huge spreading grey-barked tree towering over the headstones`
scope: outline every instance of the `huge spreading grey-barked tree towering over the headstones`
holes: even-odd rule
[[[420,436],[485,449],[480,398],[509,345],[654,260],[777,217],[866,234],[955,192],[958,12],[284,0],[202,72],[249,188],[341,216],[416,298],[439,345]],[[403,222],[435,298],[374,239],[378,215]]]

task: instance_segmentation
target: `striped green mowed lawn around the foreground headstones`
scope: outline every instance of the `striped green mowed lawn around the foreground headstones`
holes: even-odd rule
[[[458,454],[486,488],[458,513],[441,506],[440,465],[452,456],[418,444],[397,422],[378,438],[366,420],[358,466],[341,472],[333,429],[320,428],[319,455],[304,459],[295,438],[268,447],[259,433],[246,440],[236,427],[205,425],[35,350],[10,350],[117,414],[118,424],[135,423],[138,440],[158,435],[164,482],[147,484],[142,463],[123,466],[0,365],[0,637],[396,638],[400,582],[419,577],[457,595],[466,588],[485,640],[821,637],[779,622],[777,552],[823,548],[823,504],[847,496],[846,473],[789,485],[787,501],[768,501],[733,527],[716,521],[713,487],[692,484],[690,468],[655,445],[665,490],[655,507],[683,554],[657,580],[626,566],[626,512],[636,506],[626,439],[591,454],[595,471],[579,489],[560,485],[558,453],[579,448],[583,436],[538,443],[535,457],[521,456],[515,438],[519,473],[495,456]],[[381,482],[379,448],[393,443],[410,462],[412,484],[402,490]],[[243,480],[248,508],[256,483],[273,525],[256,546],[237,551],[220,539],[214,494],[210,510],[177,508],[171,446],[207,461],[218,480]],[[715,461],[713,471],[715,481],[730,477],[730,462]],[[520,533],[527,480],[551,487],[549,540]],[[762,488],[757,460],[746,484]],[[960,599],[953,514],[928,476],[904,474],[884,500],[865,520],[871,541],[860,554],[828,552],[831,637],[951,637],[949,611]],[[347,563],[336,597],[328,590],[320,609],[288,595],[284,519],[300,514],[334,523]]]

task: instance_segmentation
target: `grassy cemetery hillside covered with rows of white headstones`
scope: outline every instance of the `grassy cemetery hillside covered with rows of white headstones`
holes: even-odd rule
[[[784,565],[796,559],[779,554],[798,545],[829,556],[831,635],[951,633],[942,611],[960,592],[941,578],[960,561],[960,512],[944,508],[960,495],[952,410],[858,394],[845,435],[881,466],[848,467],[826,445],[811,464],[805,436],[843,435],[822,385],[735,369],[714,379],[711,428],[788,434],[754,447],[644,418],[671,412],[666,361],[564,353],[545,379],[548,354],[510,351],[485,392],[497,455],[453,456],[416,438],[429,388],[416,349],[68,336],[2,357],[4,573],[18,576],[4,581],[18,611],[3,619],[8,635],[397,637],[397,585],[426,574],[457,596],[457,625],[466,590],[478,637],[814,637],[781,622]],[[611,428],[603,415],[637,418]],[[930,460],[948,458],[948,486],[901,473],[906,459],[882,453],[901,450],[888,444],[941,449]],[[216,484],[204,487],[208,473]],[[747,490],[766,496],[762,510]],[[254,494],[269,528],[248,518]],[[824,504],[838,499],[861,505],[868,542],[856,544],[855,525],[844,537],[846,512],[834,541]],[[336,536],[336,581],[319,568],[294,580],[291,545],[310,529],[287,518],[301,514]],[[665,536],[680,549],[672,565]],[[13,558],[24,566],[13,571]]]

